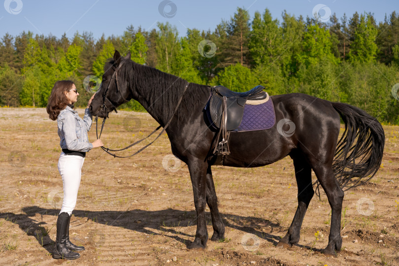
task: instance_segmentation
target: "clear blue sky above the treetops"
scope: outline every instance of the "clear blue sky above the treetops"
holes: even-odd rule
[[[222,19],[229,20],[237,7],[248,10],[251,20],[255,11],[268,8],[274,18],[281,22],[281,13],[287,10],[291,15],[311,17],[317,4],[349,17],[356,11],[371,12],[377,21],[383,21],[395,9],[399,11],[398,0],[351,1],[351,0],[0,0],[0,37],[5,33],[13,36],[23,31],[33,34],[52,34],[61,37],[64,33],[71,38],[74,33],[92,32],[95,39],[122,35],[126,27],[141,26],[144,30],[156,28],[157,22],[169,22],[176,26],[179,35],[186,29],[213,31]],[[164,8],[160,4],[163,3]],[[164,15],[164,16],[163,16]],[[169,17],[169,18],[168,18]]]

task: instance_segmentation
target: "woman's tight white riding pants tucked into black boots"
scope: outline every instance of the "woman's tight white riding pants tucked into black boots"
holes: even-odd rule
[[[67,212],[70,216],[75,208],[84,161],[85,158],[81,156],[66,155],[64,152],[60,155],[58,171],[64,185],[64,201],[60,213]]]

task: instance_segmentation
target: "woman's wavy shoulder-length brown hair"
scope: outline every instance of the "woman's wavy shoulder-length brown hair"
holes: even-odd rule
[[[68,105],[69,100],[66,98],[64,92],[70,90],[73,84],[71,80],[59,80],[54,84],[46,107],[51,120],[57,120],[61,110],[65,109],[66,105]]]

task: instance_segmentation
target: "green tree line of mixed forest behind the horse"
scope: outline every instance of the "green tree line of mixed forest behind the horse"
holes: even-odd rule
[[[6,33],[0,43],[0,105],[44,107],[55,81],[70,79],[85,105],[91,94],[83,89],[88,75],[101,77],[105,62],[119,50],[139,64],[156,67],[189,82],[224,85],[242,92],[263,85],[270,95],[305,93],[346,102],[385,123],[399,123],[399,101],[392,94],[399,83],[399,14],[383,22],[371,13],[350,18],[335,14],[329,22],[270,11],[251,19],[237,8],[230,20],[211,31],[158,23],[144,31],[132,25],[121,36],[90,32],[69,39],[23,32]],[[135,101],[122,106],[143,110]]]

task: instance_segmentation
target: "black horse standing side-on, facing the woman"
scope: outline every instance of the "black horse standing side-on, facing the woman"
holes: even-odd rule
[[[107,117],[117,106],[134,99],[162,127],[171,119],[166,133],[172,153],[189,168],[197,211],[197,232],[188,248],[206,246],[205,204],[208,204],[212,217],[214,232],[211,240],[223,239],[225,226],[219,214],[211,171],[215,163],[212,151],[217,143],[217,132],[204,114],[211,88],[139,65],[130,59],[130,53],[123,58],[118,51],[106,63],[104,71],[103,88],[94,97],[91,112]],[[332,208],[329,243],[323,252],[336,256],[335,251],[342,246],[342,188],[362,184],[377,172],[385,143],[382,126],[365,111],[345,103],[297,93],[271,96],[271,99],[276,121],[291,120],[296,126],[295,132],[282,134],[277,125],[263,131],[232,132],[229,138],[231,154],[224,158],[223,165],[258,167],[287,155],[293,159],[298,208],[288,233],[278,243],[283,247],[299,241],[303,217],[314,195],[313,170]],[[345,132],[338,141],[340,117],[345,123]]]

